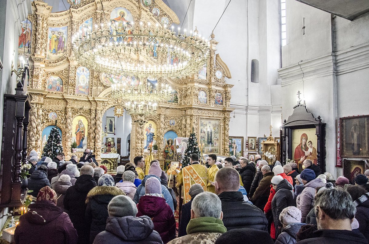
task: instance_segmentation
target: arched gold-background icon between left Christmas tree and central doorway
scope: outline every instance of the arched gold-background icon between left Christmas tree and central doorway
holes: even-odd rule
[[[72,143],[76,142],[77,152],[83,152],[87,149],[88,122],[84,116],[76,116],[72,120]]]

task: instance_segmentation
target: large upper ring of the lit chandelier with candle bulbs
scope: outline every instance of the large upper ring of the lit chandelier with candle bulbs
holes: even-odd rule
[[[150,22],[101,23],[82,36],[72,37],[77,62],[107,74],[182,78],[206,63],[210,42],[174,27]]]

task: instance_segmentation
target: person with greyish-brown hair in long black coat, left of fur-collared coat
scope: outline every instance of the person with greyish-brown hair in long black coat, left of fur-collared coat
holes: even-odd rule
[[[89,191],[96,187],[93,175],[94,170],[92,166],[83,165],[80,177],[77,178],[74,185],[68,188],[64,196],[65,212],[68,213],[74,228],[77,230],[78,243],[88,243],[89,241],[89,226],[87,226],[87,221],[85,220],[85,201]]]

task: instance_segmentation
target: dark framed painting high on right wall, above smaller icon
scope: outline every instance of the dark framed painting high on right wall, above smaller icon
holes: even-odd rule
[[[369,157],[369,115],[339,118],[341,157]]]

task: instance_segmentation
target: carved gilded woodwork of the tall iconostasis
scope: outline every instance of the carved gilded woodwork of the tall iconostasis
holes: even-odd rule
[[[70,1],[70,0],[68,0]],[[70,2],[72,3],[72,2]],[[76,70],[79,64],[74,59],[71,49],[71,36],[79,30],[79,26],[89,18],[93,18],[93,25],[110,18],[110,11],[115,7],[125,7],[131,11],[135,22],[139,19],[157,22],[160,24],[162,17],[167,17],[170,23],[179,24],[177,16],[166,6],[162,0],[152,1],[151,6],[145,7],[135,0],[102,0],[104,12],[100,0],[81,0],[78,5],[71,4],[67,11],[51,13],[51,7],[41,1],[32,2],[33,13],[29,19],[34,26],[31,58],[30,58],[30,84],[28,93],[32,95],[32,109],[30,111],[30,125],[28,136],[28,151],[35,149],[40,153],[42,130],[52,125],[54,121],[49,119],[49,113],[58,114],[58,126],[62,130],[62,142],[66,159],[72,156],[71,143],[74,129],[72,120],[77,115],[83,115],[88,123],[87,146],[94,150],[96,159],[101,159],[101,132],[102,117],[108,108],[123,105],[122,101],[113,100],[111,87],[102,79],[102,74],[90,70],[90,86],[88,95],[76,95]],[[154,7],[159,8],[160,15],[152,14]],[[72,19],[70,18],[72,16]],[[49,27],[68,26],[68,40],[66,40],[66,55],[57,60],[47,60],[48,29]],[[161,25],[160,25],[161,26]],[[144,26],[146,28],[146,26]],[[159,27],[161,28],[161,27]],[[207,80],[197,79],[197,74],[186,79],[166,79],[173,89],[178,92],[178,103],[159,104],[157,114],[150,118],[133,117],[131,130],[131,160],[136,155],[143,155],[145,145],[144,121],[153,120],[158,128],[157,143],[158,153],[154,154],[161,163],[163,162],[163,136],[168,130],[173,130],[179,137],[188,137],[192,128],[199,134],[200,118],[211,118],[219,121],[219,146],[221,154],[228,153],[228,131],[230,123],[231,88],[225,79],[231,77],[227,65],[216,54],[217,41],[212,39],[210,46],[210,58],[207,62]],[[145,62],[152,62],[148,57],[142,57]],[[215,71],[223,73],[221,79],[217,79]],[[46,91],[47,80],[50,76],[59,76],[63,81],[63,92]],[[143,77],[142,80],[145,80]],[[158,79],[159,83],[161,79]],[[199,102],[199,91],[207,93],[207,103]],[[215,94],[221,93],[223,105],[215,105]],[[175,120],[175,125],[169,121]],[[118,126],[118,125],[117,125]],[[77,153],[81,156],[82,153]]]

